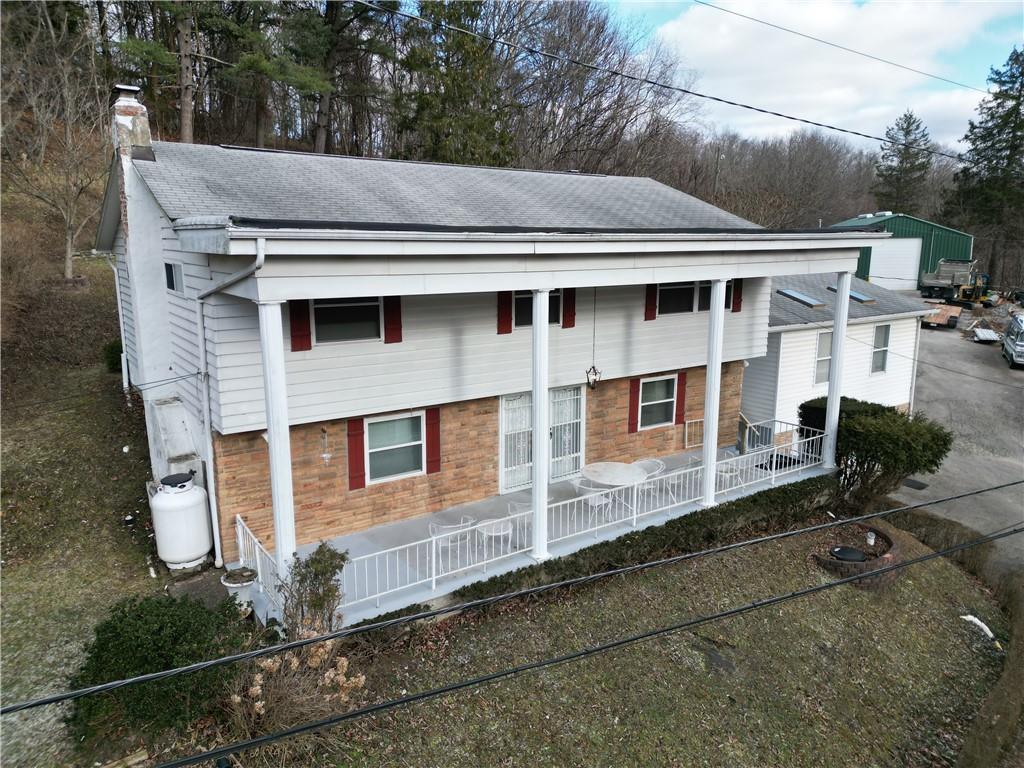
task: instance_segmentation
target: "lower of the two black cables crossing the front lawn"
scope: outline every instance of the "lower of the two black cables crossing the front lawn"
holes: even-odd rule
[[[529,662],[527,664],[518,665],[516,667],[510,667],[508,669],[502,670],[500,672],[493,672],[487,675],[480,675],[468,680],[462,680],[458,683],[451,683],[449,685],[439,686],[436,688],[430,688],[428,690],[420,691],[418,693],[413,693],[408,696],[401,696],[400,698],[391,698],[386,701],[381,701],[379,703],[370,705],[368,707],[361,707],[356,710],[350,710],[339,715],[334,715],[332,717],[324,718],[322,720],[315,720],[301,725],[296,725],[291,728],[285,728],[273,733],[267,733],[262,736],[257,736],[255,738],[245,739],[243,741],[236,741],[234,743],[227,744],[226,746],[220,746],[215,750],[208,750],[206,752],[199,753],[197,755],[191,755],[185,758],[180,758],[178,760],[172,760],[169,763],[162,763],[158,768],[182,768],[183,766],[196,765],[197,763],[202,763],[208,760],[215,760],[217,758],[226,758],[230,755],[234,755],[240,752],[245,752],[247,750],[252,750],[257,746],[263,746],[266,744],[274,743],[275,741],[281,741],[285,738],[290,738],[292,736],[298,736],[303,733],[311,733],[313,731],[324,730],[334,725],[344,723],[350,720],[356,720],[370,715],[376,715],[382,712],[387,712],[388,710],[394,710],[398,707],[404,707],[411,703],[419,703],[421,701],[426,701],[431,698],[437,698],[439,696],[446,695],[449,693],[454,693],[456,691],[465,690],[466,688],[474,688],[486,683],[497,682],[499,680],[506,680],[509,678],[514,678],[519,675],[525,674],[527,672],[537,672],[549,667],[560,666],[563,664],[568,664],[570,662],[578,662],[588,656],[597,655],[599,653],[605,653],[609,650],[614,650],[616,648],[626,647],[629,645],[634,645],[646,640],[651,640],[657,637],[663,637],[665,635],[675,634],[677,632],[682,632],[684,630],[690,630],[695,627],[700,627],[706,624],[712,624],[713,622],[719,622],[724,618],[731,618],[733,616],[742,615],[744,613],[750,613],[754,610],[759,610],[761,608],[771,607],[772,605],[778,605],[783,602],[788,602],[790,600],[796,600],[800,597],[806,597],[808,595],[817,594],[819,592],[825,592],[830,589],[836,589],[847,584],[855,584],[857,582],[863,581],[865,579],[871,579],[873,577],[882,575],[883,573],[890,573],[901,568],[907,568],[911,565],[918,565],[929,560],[934,560],[938,557],[945,557],[947,555],[955,554],[963,550],[970,549],[972,547],[977,547],[981,544],[987,544],[989,542],[994,542],[998,539],[1004,539],[1010,536],[1016,536],[1017,534],[1024,532],[1024,526],[1018,526],[1015,528],[1010,528],[1005,526],[996,531],[988,534],[978,539],[973,539],[970,542],[965,542],[958,544],[954,547],[948,547],[944,550],[938,552],[930,552],[926,555],[915,557],[911,560],[904,560],[902,562],[894,563],[893,565],[887,565],[882,568],[876,568],[874,570],[869,570],[864,573],[856,573],[854,575],[846,577],[844,579],[839,579],[835,582],[826,582],[825,584],[819,584],[814,587],[808,587],[803,590],[797,590],[795,592],[790,592],[782,595],[773,595],[772,597],[764,598],[762,600],[754,600],[753,602],[745,603],[734,608],[729,608],[727,610],[718,611],[717,613],[710,613],[695,618],[689,618],[685,622],[679,622],[677,624],[670,625],[668,627],[662,627],[656,630],[649,630],[647,632],[642,632],[636,635],[630,635],[628,637],[617,638],[599,645],[592,645],[586,648],[581,648],[579,650],[571,651],[569,653],[563,653],[559,656],[552,656],[549,658],[544,658],[539,662]]]

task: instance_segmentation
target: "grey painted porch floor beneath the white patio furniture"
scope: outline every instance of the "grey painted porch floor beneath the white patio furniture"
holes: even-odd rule
[[[734,455],[734,450],[723,450],[721,456]],[[662,457],[665,461],[666,471],[680,469],[686,466],[693,466],[694,457],[699,458],[700,452],[688,451],[675,454],[669,457]],[[820,466],[801,467],[790,471],[787,474],[777,477],[775,484],[785,484],[798,480],[826,474]],[[717,503],[723,503],[738,499],[744,496],[756,494],[771,487],[771,478],[765,475],[763,480],[759,480],[745,487],[735,490],[718,494]],[[461,505],[441,510],[429,515],[410,518],[386,525],[379,525],[368,530],[336,537],[328,540],[333,548],[347,551],[350,557],[359,557],[379,553],[393,547],[400,547],[413,542],[428,539],[428,524],[431,522],[441,524],[457,523],[463,516],[472,517],[476,522],[487,519],[506,517],[510,513],[509,505],[514,502],[529,502],[530,492],[528,488],[506,494],[503,496],[490,497],[472,504]],[[549,489],[549,502],[559,502],[575,498],[578,495],[568,480],[552,483]],[[672,506],[658,512],[646,514],[635,520],[623,520],[614,524],[607,525],[596,530],[581,532],[561,541],[553,542],[549,546],[552,557],[562,557],[585,547],[598,542],[616,539],[630,530],[660,525],[665,522],[682,517],[700,509],[699,503],[688,503]],[[317,544],[300,546],[298,554],[300,556],[311,552]],[[452,573],[437,579],[436,587],[431,588],[429,581],[417,584],[389,594],[382,595],[377,599],[367,599],[348,605],[344,608],[344,622],[346,625],[355,624],[367,618],[381,615],[393,610],[404,608],[415,603],[425,603],[450,595],[474,582],[483,581],[494,575],[506,573],[521,567],[532,565],[536,560],[528,551],[509,554],[500,560],[492,561],[484,565],[478,565],[457,573]],[[265,604],[262,595],[252,595],[254,608],[260,615],[266,615],[269,606]]]

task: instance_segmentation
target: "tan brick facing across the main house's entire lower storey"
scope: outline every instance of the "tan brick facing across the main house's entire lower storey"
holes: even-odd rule
[[[733,444],[736,439],[742,370],[742,362],[726,364],[722,370],[720,445]],[[588,390],[586,461],[635,461],[685,450],[682,425],[633,434],[628,431],[629,382],[629,379],[602,381],[597,389]],[[703,368],[688,370],[687,420],[702,417],[703,390]],[[298,544],[497,496],[500,407],[499,397],[441,406],[440,471],[368,484],[356,490],[348,488],[346,420],[292,427],[292,485]],[[322,457],[324,429],[331,453],[327,464]],[[224,559],[231,562],[238,558],[234,537],[238,514],[272,551],[269,463],[262,433],[215,433],[213,452]]]

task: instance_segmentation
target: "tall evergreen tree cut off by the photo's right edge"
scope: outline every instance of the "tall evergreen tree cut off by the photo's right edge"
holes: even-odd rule
[[[1024,279],[1024,49],[1014,48],[988,82],[991,95],[964,136],[950,210],[986,241],[976,253],[987,256],[993,283],[1009,287]]]

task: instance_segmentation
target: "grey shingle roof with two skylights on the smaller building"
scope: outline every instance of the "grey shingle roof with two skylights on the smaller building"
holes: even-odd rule
[[[794,326],[825,325],[830,326],[835,319],[836,294],[828,290],[836,285],[836,275],[827,274],[795,274],[784,278],[773,278],[771,285],[771,308],[768,315],[768,326],[771,330],[791,328]],[[782,296],[781,290],[799,291],[812,299],[818,299],[823,307],[814,309]],[[850,300],[850,322],[868,322],[874,317],[889,317],[899,314],[928,314],[933,307],[919,298],[904,296],[867,281],[854,278],[851,291],[864,294],[874,299],[873,303],[864,304]]]

